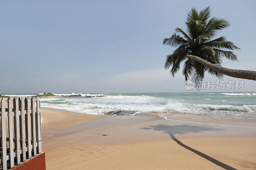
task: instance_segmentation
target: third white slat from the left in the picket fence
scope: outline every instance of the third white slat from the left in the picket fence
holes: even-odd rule
[[[19,116],[19,99],[13,98],[14,107],[14,136],[16,149],[16,163],[20,164],[20,116]]]

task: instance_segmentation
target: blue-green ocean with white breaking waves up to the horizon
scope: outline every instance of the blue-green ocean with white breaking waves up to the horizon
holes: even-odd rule
[[[256,92],[181,93],[53,93],[81,94],[82,97],[41,98],[41,107],[103,115],[114,110],[133,111],[130,115],[151,114],[170,120],[216,119],[256,120]],[[11,97],[35,94],[6,94]],[[105,97],[85,97],[102,95]]]

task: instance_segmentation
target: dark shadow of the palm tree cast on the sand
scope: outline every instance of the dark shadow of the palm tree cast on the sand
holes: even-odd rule
[[[188,149],[191,152],[196,153],[197,155],[203,157],[204,159],[207,159],[209,161],[211,161],[212,163],[224,168],[224,169],[235,169],[231,166],[228,166],[202,152],[199,152],[185,144],[183,144],[182,142],[180,142],[176,137],[174,137],[174,134],[188,134],[188,133],[201,133],[204,131],[220,131],[223,130],[223,128],[212,128],[212,127],[208,127],[205,125],[202,126],[194,126],[194,125],[188,125],[188,124],[184,124],[184,125],[164,125],[164,124],[158,124],[158,125],[154,125],[154,126],[149,126],[148,128],[141,128],[141,129],[153,129],[154,131],[163,131],[164,133],[167,133],[170,135],[170,137],[180,146]]]

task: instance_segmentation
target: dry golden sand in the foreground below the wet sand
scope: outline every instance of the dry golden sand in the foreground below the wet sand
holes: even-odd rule
[[[256,167],[255,138],[183,138],[183,144],[239,169]],[[230,141],[235,141],[230,144]],[[243,144],[243,143],[246,143]],[[248,147],[249,146],[249,147]],[[222,169],[173,140],[72,144],[46,151],[48,169]]]

